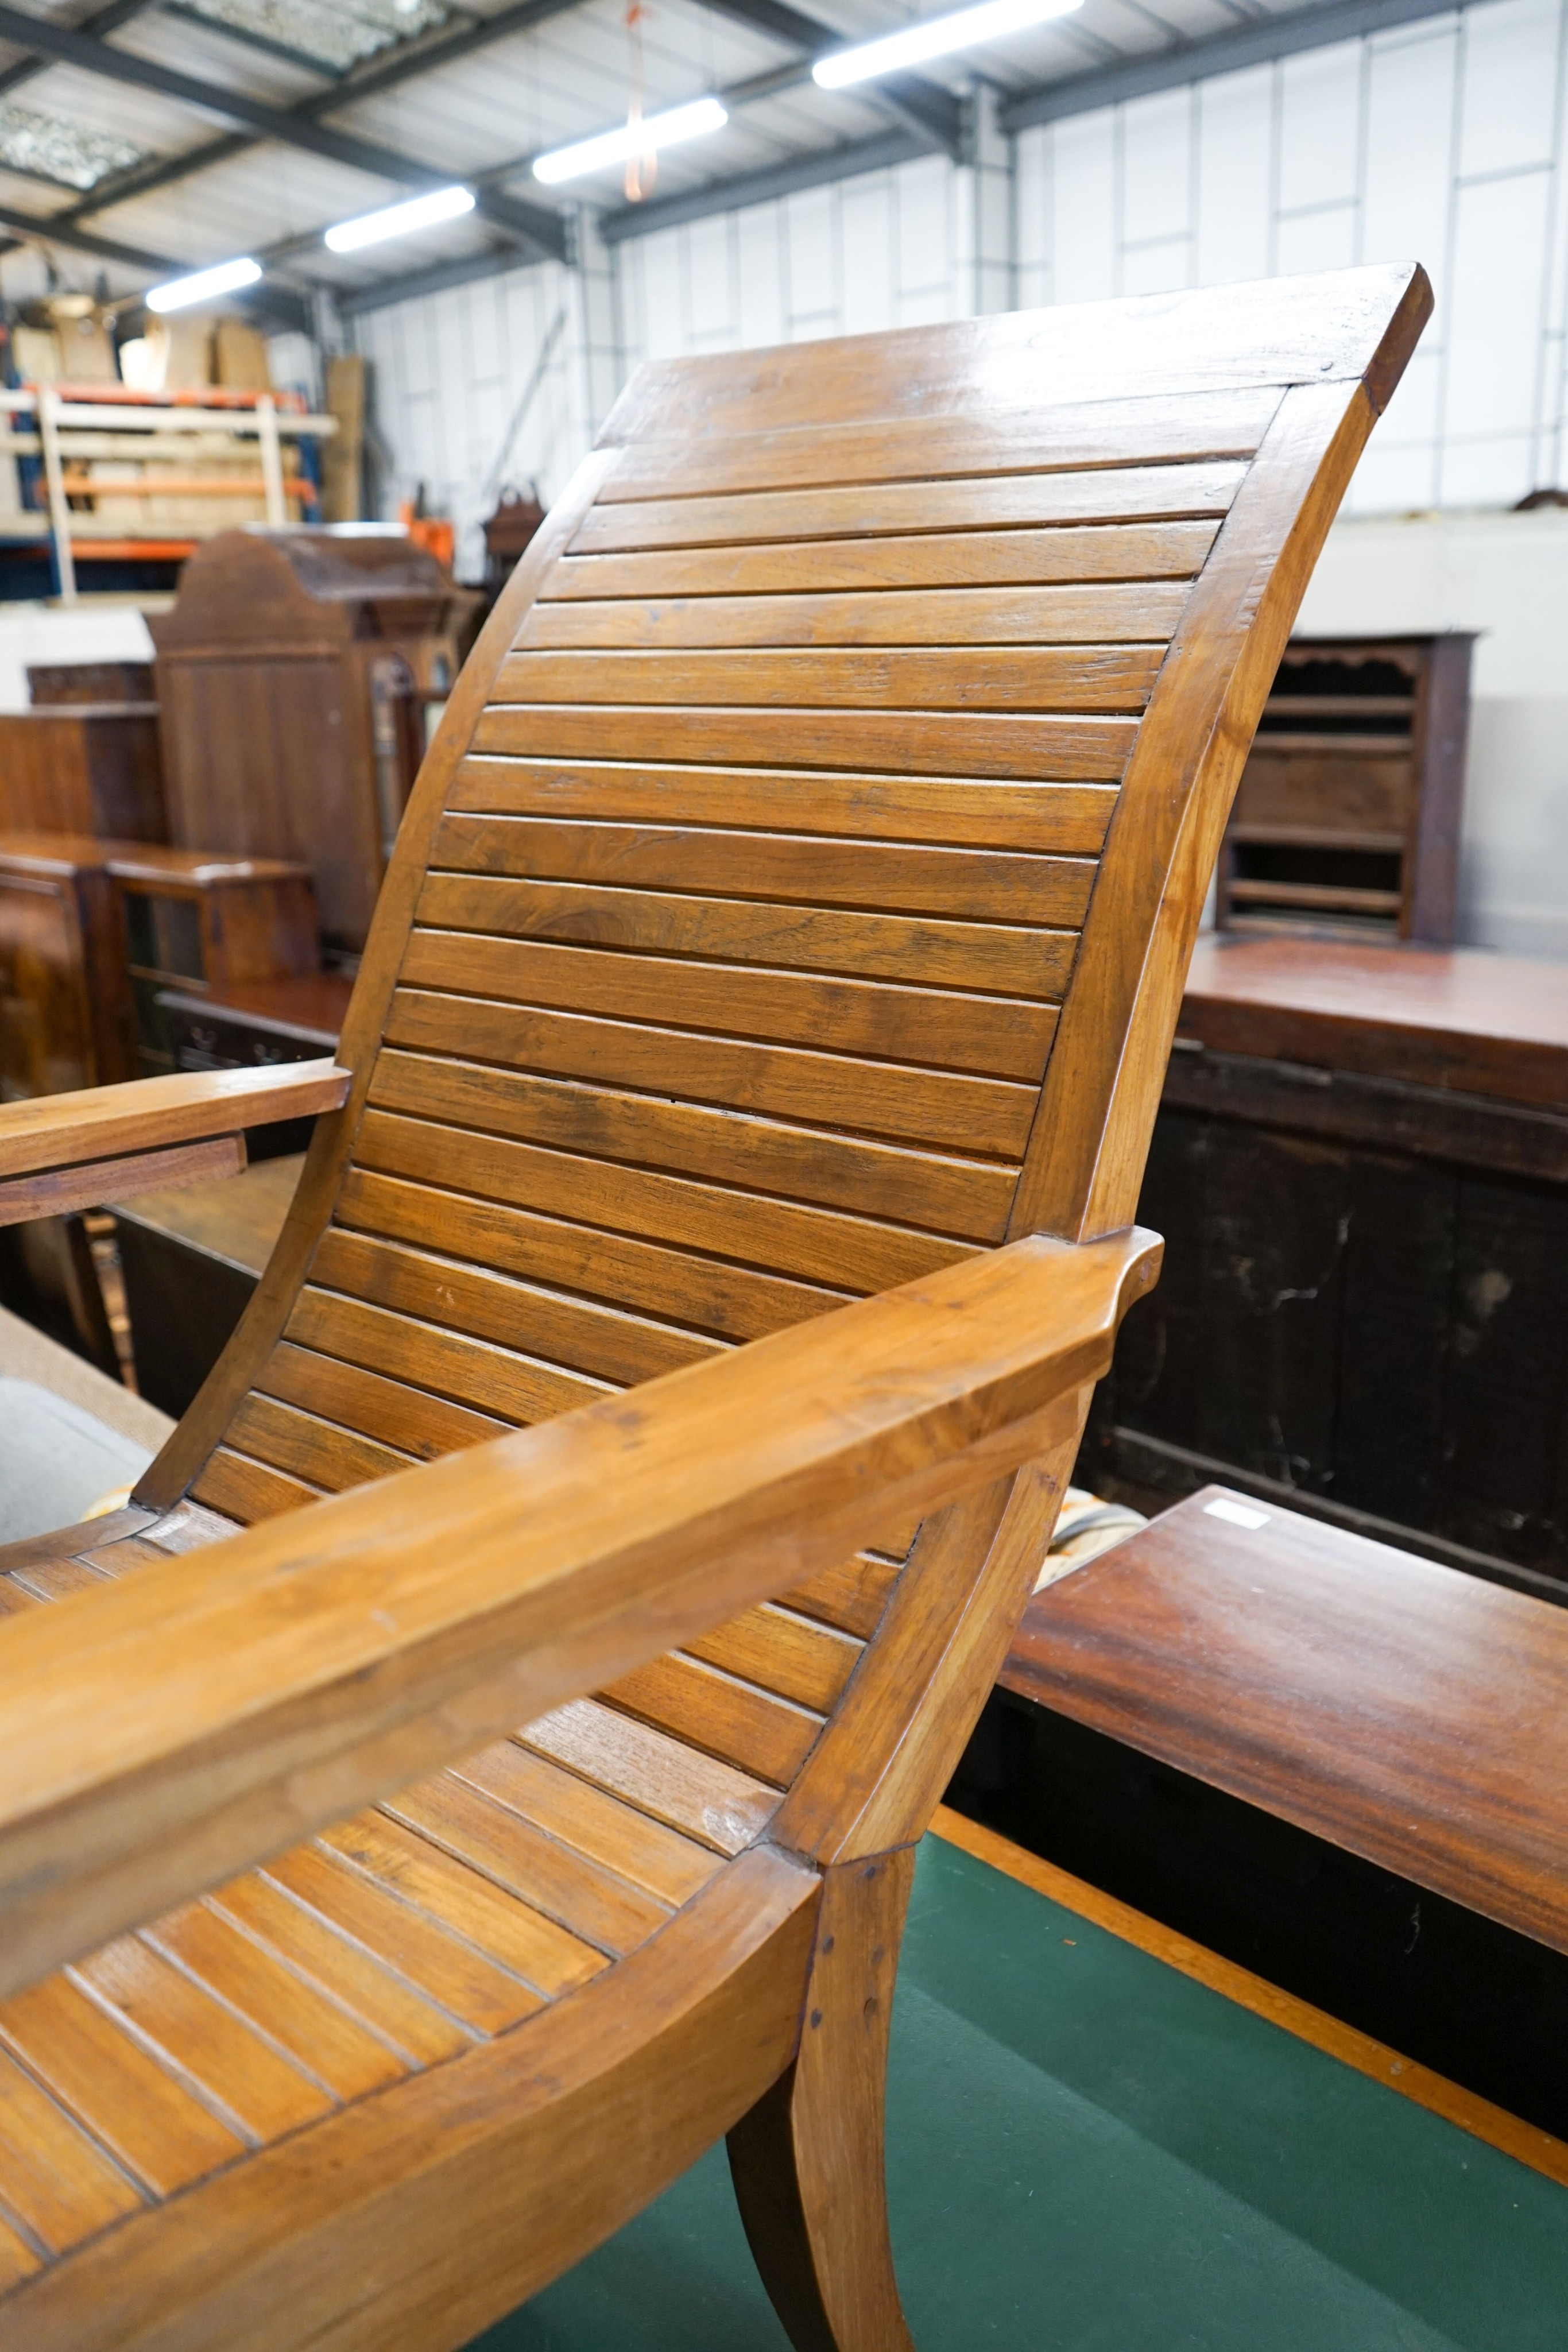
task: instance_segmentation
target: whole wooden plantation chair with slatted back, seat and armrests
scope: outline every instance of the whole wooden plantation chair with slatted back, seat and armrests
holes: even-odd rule
[[[646,367],[341,1070],[0,1112],[26,1214],[331,1105],[134,1505],[0,1557],[7,2352],[463,2345],[722,2133],[792,2343],[907,2345],[914,1842],[1154,1275],[1229,795],[1427,310]]]

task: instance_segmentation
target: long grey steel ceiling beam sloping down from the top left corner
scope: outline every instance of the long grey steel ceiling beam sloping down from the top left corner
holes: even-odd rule
[[[334,132],[294,108],[268,106],[266,99],[252,99],[242,89],[226,89],[221,82],[202,82],[193,73],[179,73],[174,66],[162,66],[155,59],[115,49],[94,33],[80,33],[45,16],[28,16],[19,7],[0,5],[0,40],[9,40],[19,49],[33,49],[61,66],[96,73],[101,80],[122,87],[150,89],[158,96],[176,99],[197,113],[244,125],[244,129],[259,132],[263,139],[303,148],[308,155],[346,165],[353,172],[390,179],[395,186],[435,188],[444,181],[444,174],[416,162],[411,155],[400,155],[395,148],[357,139],[353,132]],[[541,259],[567,259],[567,221],[559,212],[545,212],[543,205],[527,205],[517,198],[494,193],[480,198],[480,209]]]

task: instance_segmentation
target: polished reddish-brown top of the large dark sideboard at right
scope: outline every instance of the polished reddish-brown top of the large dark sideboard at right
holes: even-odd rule
[[[1568,964],[1206,931],[1178,1037],[1220,1054],[1568,1105]]]

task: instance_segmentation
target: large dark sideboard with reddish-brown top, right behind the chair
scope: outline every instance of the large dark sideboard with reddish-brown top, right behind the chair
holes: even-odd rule
[[[1079,1482],[1208,1479],[1568,1599],[1568,967],[1199,941]]]

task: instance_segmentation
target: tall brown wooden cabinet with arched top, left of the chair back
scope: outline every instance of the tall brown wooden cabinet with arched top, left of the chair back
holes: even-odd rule
[[[470,597],[402,534],[223,532],[150,619],[169,837],[296,858],[360,950]]]

